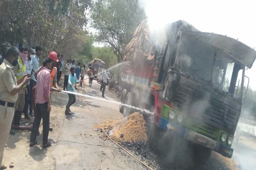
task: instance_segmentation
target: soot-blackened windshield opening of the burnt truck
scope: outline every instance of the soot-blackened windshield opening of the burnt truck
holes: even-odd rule
[[[235,88],[243,86],[241,80],[244,78],[242,77],[244,67],[219,49],[204,42],[183,37],[176,57],[175,68],[179,71],[190,74],[204,84],[232,97],[241,97],[235,94]]]

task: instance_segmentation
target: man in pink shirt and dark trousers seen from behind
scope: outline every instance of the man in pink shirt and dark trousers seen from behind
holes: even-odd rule
[[[51,146],[48,142],[49,125],[50,125],[50,70],[54,66],[54,61],[47,58],[43,61],[43,68],[37,75],[37,84],[35,90],[36,114],[30,135],[30,146],[34,146],[38,128],[43,119],[43,147]]]

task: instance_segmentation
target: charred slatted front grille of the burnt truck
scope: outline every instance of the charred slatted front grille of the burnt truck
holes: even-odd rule
[[[197,103],[200,102],[202,102],[199,104],[200,106],[197,106]],[[174,97],[174,103],[180,111],[186,112],[189,117],[199,120],[206,125],[234,133],[239,118],[239,110],[213,98],[211,94],[202,93],[179,84]],[[202,107],[202,110],[198,107]]]

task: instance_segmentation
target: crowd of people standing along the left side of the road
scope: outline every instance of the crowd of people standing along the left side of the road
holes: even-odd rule
[[[41,46],[26,47],[2,44],[0,55],[0,170],[6,169],[2,165],[4,147],[9,134],[15,134],[14,128],[19,129],[21,115],[33,120],[30,135],[30,146],[37,143],[39,126],[43,120],[43,147],[48,147],[50,128],[51,91],[60,92],[59,81],[64,74],[63,90],[74,92],[77,84],[82,85],[85,74],[85,65],[80,68],[80,63],[67,60],[64,56],[51,51],[40,65],[43,48]],[[80,81],[79,78],[81,77]],[[80,82],[80,83],[79,83]],[[69,100],[65,115],[70,115],[70,106],[76,102],[73,94],[68,94]]]

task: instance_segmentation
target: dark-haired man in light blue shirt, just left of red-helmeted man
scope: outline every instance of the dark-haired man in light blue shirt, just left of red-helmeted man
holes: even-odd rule
[[[42,55],[43,48],[41,46],[36,46],[36,54],[34,55],[32,59],[32,65],[33,65],[33,72],[35,72],[39,67],[39,57]],[[31,80],[30,80],[30,89],[32,91],[32,97],[30,100],[30,104],[33,106],[33,110],[35,112],[36,110],[36,102],[35,102],[35,87],[36,86],[36,78],[34,74],[31,74]],[[33,89],[34,88],[34,89]],[[30,112],[29,115],[33,116],[33,112]]]

